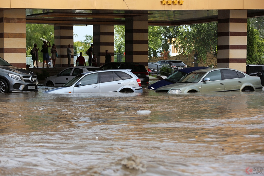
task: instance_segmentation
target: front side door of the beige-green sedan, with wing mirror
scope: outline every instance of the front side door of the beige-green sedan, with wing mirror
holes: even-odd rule
[[[223,92],[225,90],[224,80],[222,80],[220,70],[207,73],[205,78],[210,78],[210,81],[201,82],[202,92]]]

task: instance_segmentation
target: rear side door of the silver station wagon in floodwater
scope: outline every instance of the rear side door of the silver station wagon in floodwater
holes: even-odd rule
[[[115,72],[100,73],[100,92],[117,92],[124,84]]]

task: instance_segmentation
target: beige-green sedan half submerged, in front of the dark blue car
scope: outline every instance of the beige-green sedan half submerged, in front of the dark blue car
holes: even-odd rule
[[[225,92],[262,90],[259,77],[249,76],[230,68],[196,70],[182,77],[176,84],[156,89],[156,92]]]

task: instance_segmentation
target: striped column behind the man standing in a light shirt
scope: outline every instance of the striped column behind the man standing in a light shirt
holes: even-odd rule
[[[73,66],[73,25],[54,25],[54,44],[58,51],[55,67],[68,67],[67,48],[71,45]]]

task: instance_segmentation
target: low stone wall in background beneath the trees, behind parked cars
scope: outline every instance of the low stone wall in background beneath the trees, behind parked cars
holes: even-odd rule
[[[177,56],[168,57],[168,60],[181,60],[188,67],[194,67],[194,63],[193,63],[194,62],[194,57],[193,57],[194,53],[195,52],[193,52],[190,55],[179,54]],[[205,63],[203,61],[198,63],[199,67],[207,67],[207,66],[217,67],[217,56],[213,55],[212,53],[207,53],[206,58],[207,58],[207,60]],[[158,62],[159,60],[162,60],[162,58],[151,57],[151,58],[149,58],[148,62]]]

